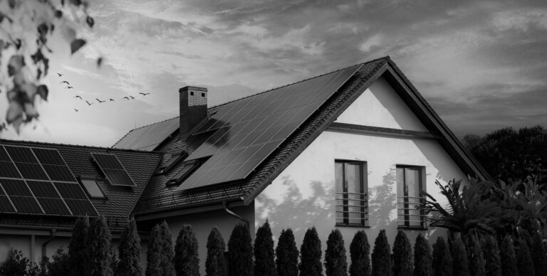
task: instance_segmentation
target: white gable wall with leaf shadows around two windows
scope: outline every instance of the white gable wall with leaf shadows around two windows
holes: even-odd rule
[[[337,122],[426,131],[383,78],[365,90]],[[338,227],[348,254],[353,235],[361,229],[367,233],[371,246],[380,229],[387,230],[391,245],[395,240],[397,164],[424,166],[425,189],[437,198],[440,194],[435,180],[446,184],[450,179],[466,179],[435,139],[325,131],[255,199],[256,227],[268,218],[275,238],[281,229],[290,227],[300,247],[306,229],[316,226],[323,240],[324,253],[328,234],[335,228],[335,159],[368,164],[370,227]],[[412,243],[417,233],[427,237],[444,233],[444,230],[434,228],[405,231]]]

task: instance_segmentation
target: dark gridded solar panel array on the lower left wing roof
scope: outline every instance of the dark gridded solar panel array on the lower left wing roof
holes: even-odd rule
[[[0,145],[0,213],[98,216],[57,149]]]

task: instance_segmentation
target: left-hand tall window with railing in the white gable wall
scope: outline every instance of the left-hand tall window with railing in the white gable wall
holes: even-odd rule
[[[367,163],[335,161],[336,225],[368,225]]]

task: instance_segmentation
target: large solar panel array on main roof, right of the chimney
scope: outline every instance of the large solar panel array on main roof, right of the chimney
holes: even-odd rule
[[[226,104],[195,132],[214,131],[187,160],[211,157],[178,189],[246,178],[359,68],[355,65]]]

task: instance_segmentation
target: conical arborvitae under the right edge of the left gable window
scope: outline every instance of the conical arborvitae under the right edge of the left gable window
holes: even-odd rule
[[[353,236],[350,244],[350,276],[370,276],[370,245],[365,231],[360,230]]]

